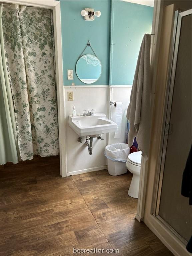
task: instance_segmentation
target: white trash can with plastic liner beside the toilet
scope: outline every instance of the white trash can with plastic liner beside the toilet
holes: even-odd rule
[[[130,152],[128,144],[117,143],[105,147],[104,154],[107,158],[108,172],[112,176],[127,172],[126,161]]]

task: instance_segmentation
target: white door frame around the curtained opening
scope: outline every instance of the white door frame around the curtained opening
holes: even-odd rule
[[[55,63],[56,63],[56,83],[57,83],[57,109],[58,109],[58,129],[59,129],[59,157],[60,175],[66,177],[66,137],[64,120],[64,95],[63,95],[63,62],[62,62],[62,41],[61,41],[61,10],[60,2],[55,0],[1,0],[4,4],[18,4],[34,6],[53,10],[53,26],[55,38]]]

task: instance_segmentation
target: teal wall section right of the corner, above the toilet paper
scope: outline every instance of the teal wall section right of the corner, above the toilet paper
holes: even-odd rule
[[[111,85],[132,85],[141,41],[151,34],[153,7],[114,1]]]

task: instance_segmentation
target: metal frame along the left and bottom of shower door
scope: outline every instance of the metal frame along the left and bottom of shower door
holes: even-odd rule
[[[163,129],[163,136],[162,136],[162,142],[161,142],[162,154],[159,156],[160,167],[157,170],[157,176],[156,176],[157,178],[156,178],[156,182],[155,182],[155,184],[156,184],[155,185],[155,194],[154,194],[153,209],[152,209],[153,216],[157,217],[184,244],[186,244],[187,241],[183,237],[181,237],[165,220],[163,220],[160,217],[159,206],[160,206],[163,174],[164,174],[164,167],[165,167],[167,141],[168,141],[168,135],[169,135],[170,128],[171,128],[170,117],[171,117],[171,108],[172,108],[173,91],[174,91],[174,83],[175,83],[175,73],[176,73],[176,66],[177,66],[177,56],[178,56],[178,49],[179,49],[180,32],[181,32],[181,23],[182,23],[182,17],[191,15],[191,14],[192,14],[192,9],[184,11],[184,12],[181,12],[181,11],[175,12],[172,47],[171,47],[171,52],[170,52],[170,63],[169,63],[169,70],[168,70],[167,91],[166,91],[166,99],[165,99],[165,110],[164,110],[164,121],[163,121],[164,129]]]

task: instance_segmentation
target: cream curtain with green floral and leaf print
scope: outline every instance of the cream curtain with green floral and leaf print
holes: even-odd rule
[[[11,5],[0,18],[21,159],[58,155],[52,11]]]

